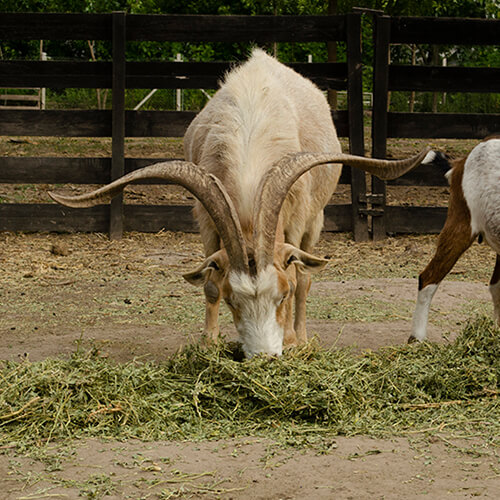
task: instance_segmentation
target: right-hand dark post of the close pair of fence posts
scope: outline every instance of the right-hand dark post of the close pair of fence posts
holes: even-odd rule
[[[385,158],[387,150],[387,93],[389,90],[390,17],[374,17],[372,156]],[[386,184],[372,177],[372,235],[374,240],[386,237]],[[381,209],[381,210],[380,210]],[[378,212],[378,213],[377,213]]]

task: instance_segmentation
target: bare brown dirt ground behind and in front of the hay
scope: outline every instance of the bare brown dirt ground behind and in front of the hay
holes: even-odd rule
[[[378,349],[406,342],[418,272],[434,236],[354,243],[324,234],[308,330],[322,345]],[[0,234],[0,359],[31,361],[93,347],[116,361],[162,360],[198,342],[201,290],[182,273],[202,258],[196,234]],[[448,342],[474,315],[491,314],[494,254],[475,244],[436,294],[429,337]],[[235,337],[227,311],[224,334]],[[432,426],[432,424],[430,424]],[[50,457],[0,450],[5,499],[35,498],[469,498],[500,497],[498,450],[442,432],[392,439],[339,436],[326,453],[264,439],[214,442],[78,441]]]

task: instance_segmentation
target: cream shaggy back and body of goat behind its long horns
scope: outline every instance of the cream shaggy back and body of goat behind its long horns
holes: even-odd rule
[[[260,179],[275,161],[300,151],[340,151],[322,92],[260,49],[228,73],[188,128],[184,147],[188,160],[222,180],[242,225],[251,224]],[[299,233],[310,223],[310,214],[316,217],[328,202],[339,175],[338,166],[325,165],[305,174],[292,188],[282,213],[301,210]]]

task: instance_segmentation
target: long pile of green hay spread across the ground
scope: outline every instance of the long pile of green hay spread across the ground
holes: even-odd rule
[[[304,444],[338,434],[459,430],[500,435],[500,331],[479,318],[453,344],[355,354],[314,344],[234,361],[191,346],[162,364],[91,354],[0,363],[0,446],[96,436],[266,435]]]

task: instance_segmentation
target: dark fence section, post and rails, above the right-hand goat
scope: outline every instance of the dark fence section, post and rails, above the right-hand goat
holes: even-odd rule
[[[390,45],[498,45],[500,21],[456,18],[375,18],[372,154],[386,155],[388,137],[482,139],[500,131],[499,114],[388,112],[390,91],[500,92],[500,68],[418,67],[389,64]],[[446,185],[444,172],[421,166],[393,181],[396,185]],[[373,236],[439,232],[442,207],[385,206],[386,185],[375,179],[372,191],[383,210],[373,217]]]

